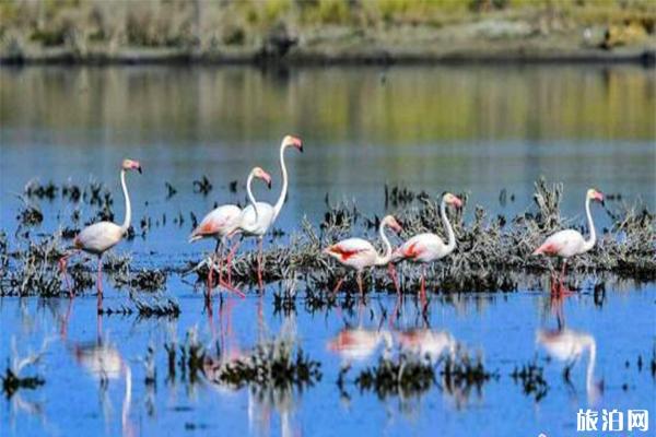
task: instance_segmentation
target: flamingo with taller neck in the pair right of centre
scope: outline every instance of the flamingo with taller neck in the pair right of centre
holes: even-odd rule
[[[454,229],[446,216],[446,206],[454,205],[455,208],[462,208],[462,201],[446,192],[442,196],[442,203],[440,204],[440,214],[442,216],[442,223],[446,228],[447,243],[437,235],[432,233],[424,233],[415,235],[410,238],[401,246],[399,246],[391,255],[393,262],[399,262],[402,260],[409,260],[412,262],[421,262],[421,299],[425,302],[425,277],[426,277],[426,264],[433,261],[441,260],[446,257],[456,248],[456,236]]]

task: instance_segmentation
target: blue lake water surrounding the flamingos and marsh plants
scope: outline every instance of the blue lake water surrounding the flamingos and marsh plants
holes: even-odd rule
[[[201,217],[215,202],[244,203],[244,179],[253,166],[273,176],[271,192],[258,186],[256,193],[274,201],[278,145],[285,133],[303,138],[305,147],[303,154],[286,153],[290,194],[277,226],[288,235],[304,216],[318,223],[327,194],[332,203],[353,201],[380,216],[385,184],[434,196],[467,192],[468,217],[473,204],[513,215],[530,208],[540,176],[564,185],[562,212],[581,224],[588,187],[654,210],[655,114],[656,75],[640,67],[3,68],[0,227],[11,241],[22,205],[14,194],[35,177],[102,181],[114,192],[122,220],[118,166],[132,157],[144,169],[128,180],[136,225],[142,217],[153,225],[145,238],[125,241],[115,252],[131,253],[133,268],[181,268],[213,247],[187,244],[189,213]],[[213,185],[207,196],[192,185],[203,175]],[[236,192],[229,189],[233,180],[239,181]],[[167,198],[165,182],[177,193]],[[508,194],[504,204],[502,189]],[[38,203],[45,218],[37,234],[70,224],[70,203]],[[87,218],[91,211],[83,205],[81,214]],[[178,225],[173,218],[180,214],[185,222]],[[601,209],[594,214],[599,227],[609,223]],[[215,299],[210,316],[201,290],[177,273],[166,288],[181,308],[174,320],[97,320],[92,293],[70,306],[67,298],[0,297],[2,366],[13,355],[12,342],[23,356],[47,341],[36,370],[26,370],[46,383],[0,400],[0,434],[559,436],[576,434],[576,413],[588,408],[648,409],[653,430],[656,285],[607,280],[606,299],[596,305],[593,287],[599,280],[588,277],[581,292],[557,304],[546,281],[541,288],[512,294],[437,295],[427,320],[408,298],[394,327],[384,317],[394,296],[373,295],[353,312],[308,312],[301,292],[296,310],[284,314],[273,306],[279,284],[261,298],[225,296],[222,307]],[[105,293],[107,307],[129,303],[107,277]],[[595,344],[594,368],[588,349],[570,382],[564,363],[547,359],[536,340],[558,327],[559,312],[560,323]],[[405,331],[448,332],[480,354],[497,378],[480,391],[436,383],[421,395],[378,399],[353,383],[384,353],[385,342],[377,341],[353,361],[344,395],[336,381],[347,358],[328,344],[347,327],[389,331],[395,351]],[[164,345],[181,344],[190,329],[210,351],[216,342],[239,353],[262,338],[293,339],[321,363],[321,380],[302,392],[258,397],[202,376],[171,378]],[[154,386],[144,382],[149,345]],[[543,366],[549,387],[539,401],[509,376],[534,359]],[[593,385],[586,383],[588,368]]]

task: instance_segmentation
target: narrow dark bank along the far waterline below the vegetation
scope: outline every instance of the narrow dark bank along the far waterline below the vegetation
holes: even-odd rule
[[[291,50],[276,56],[262,50],[199,52],[176,48],[126,48],[113,52],[85,54],[52,48],[16,56],[0,56],[0,66],[412,66],[458,63],[634,63],[656,66],[656,47],[618,50],[554,48],[512,45],[506,47],[459,47],[435,49],[368,48],[350,50]]]

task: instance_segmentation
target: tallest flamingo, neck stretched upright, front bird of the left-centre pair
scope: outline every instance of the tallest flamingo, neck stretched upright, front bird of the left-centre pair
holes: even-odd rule
[[[256,237],[258,240],[258,255],[257,255],[257,281],[259,288],[262,290],[262,240],[267,232],[271,228],[276,218],[280,214],[282,210],[282,205],[284,204],[288,191],[288,173],[286,166],[284,164],[284,151],[294,146],[298,149],[300,152],[303,152],[303,142],[292,135],[285,135],[282,139],[280,144],[280,170],[282,173],[282,190],[280,191],[280,197],[274,205],[271,205],[267,202],[256,202],[255,198],[250,190],[248,191],[248,200],[250,204],[246,206],[242,214],[239,215],[239,224],[237,231],[235,233],[241,233],[246,237]],[[236,245],[238,246],[238,244]],[[233,253],[236,250],[236,247],[233,248]]]

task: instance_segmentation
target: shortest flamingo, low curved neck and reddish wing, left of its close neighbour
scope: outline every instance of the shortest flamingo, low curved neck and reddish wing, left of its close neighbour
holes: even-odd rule
[[[324,253],[335,258],[341,264],[355,270],[361,296],[364,296],[364,291],[362,288],[362,271],[365,268],[385,265],[391,259],[391,245],[385,235],[385,227],[387,226],[397,233],[402,231],[401,225],[399,225],[394,216],[386,215],[383,218],[380,226],[378,227],[378,233],[380,239],[385,244],[384,255],[378,255],[374,246],[362,238],[348,238],[324,249]],[[332,293],[339,291],[343,281],[343,277],[339,280]]]

